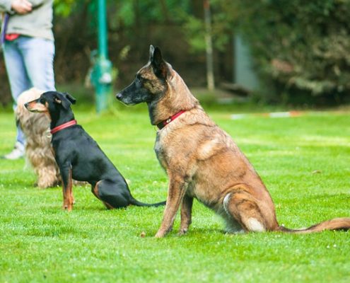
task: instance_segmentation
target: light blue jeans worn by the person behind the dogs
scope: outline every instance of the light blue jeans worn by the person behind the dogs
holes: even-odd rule
[[[37,37],[20,36],[4,42],[4,58],[13,97],[13,110],[18,96],[35,87],[54,91],[54,42]],[[25,144],[25,137],[17,126],[17,141]]]

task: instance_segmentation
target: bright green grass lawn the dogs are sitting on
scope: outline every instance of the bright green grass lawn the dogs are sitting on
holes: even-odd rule
[[[165,200],[167,177],[153,153],[146,105],[116,105],[101,116],[75,109],[134,197]],[[238,107],[217,109],[209,115],[261,175],[280,224],[301,228],[350,216],[349,112],[231,120]],[[0,129],[3,155],[15,137],[9,110],[0,113]],[[60,187],[33,183],[24,160],[0,160],[0,282],[350,282],[350,232],[228,235],[223,221],[195,202],[186,236],[177,236],[177,215],[174,231],[156,239],[163,207],[106,210],[90,187],[74,187],[76,205],[67,213]]]

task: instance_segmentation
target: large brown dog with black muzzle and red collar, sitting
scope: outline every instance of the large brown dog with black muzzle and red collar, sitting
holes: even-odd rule
[[[257,172],[231,137],[206,115],[158,47],[151,45],[148,63],[116,97],[126,105],[147,103],[151,124],[159,129],[154,150],[168,173],[169,187],[156,237],[172,229],[180,204],[180,235],[187,232],[194,197],[223,216],[231,233],[350,229],[350,218],[324,221],[308,229],[279,226],[274,202]]]

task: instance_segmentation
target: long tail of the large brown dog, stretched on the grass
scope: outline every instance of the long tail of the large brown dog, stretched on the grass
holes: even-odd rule
[[[305,229],[288,229],[284,226],[279,226],[276,231],[281,231],[284,233],[297,233],[297,234],[306,234],[306,233],[317,233],[324,230],[349,230],[350,229],[350,218],[334,218],[331,220],[323,221],[319,224],[315,224]]]

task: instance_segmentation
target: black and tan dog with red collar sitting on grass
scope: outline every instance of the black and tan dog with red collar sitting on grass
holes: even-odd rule
[[[80,125],[76,125],[71,104],[76,100],[68,93],[48,91],[25,103],[31,112],[44,112],[51,121],[52,147],[63,185],[63,208],[73,208],[72,178],[91,184],[93,195],[109,209],[144,204],[132,197],[127,182],[110,159]]]

